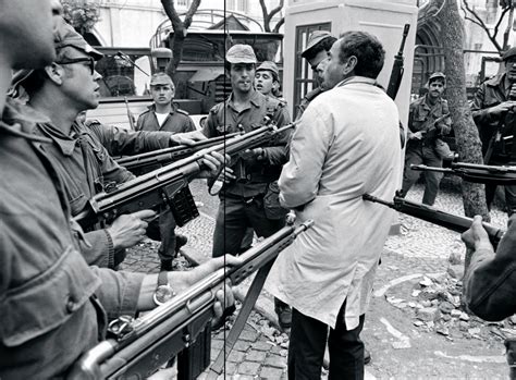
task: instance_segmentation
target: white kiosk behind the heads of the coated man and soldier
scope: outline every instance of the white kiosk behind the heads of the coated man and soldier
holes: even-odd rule
[[[386,88],[394,56],[402,42],[404,26],[409,24],[410,29],[404,49],[405,72],[396,97],[400,117],[406,125],[417,13],[416,0],[287,0],[283,39],[283,91],[291,115],[294,115],[295,107],[305,94],[317,86],[310,66],[300,57],[311,32],[329,30],[335,37],[346,30],[366,30],[376,35],[386,51],[385,65],[379,76],[380,84]]]

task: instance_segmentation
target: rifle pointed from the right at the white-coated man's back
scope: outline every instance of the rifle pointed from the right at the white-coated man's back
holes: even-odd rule
[[[421,205],[415,201],[406,200],[400,196],[395,196],[393,201],[383,200],[369,194],[363,195],[364,200],[378,203],[390,207],[396,211],[406,213],[410,217],[425,220],[427,222],[444,226],[445,229],[463,233],[471,226],[472,219],[467,217],[455,216],[438,210],[433,207]],[[483,228],[488,232],[491,244],[496,249],[496,246],[502,238],[504,231],[495,228],[492,224],[482,222]]]

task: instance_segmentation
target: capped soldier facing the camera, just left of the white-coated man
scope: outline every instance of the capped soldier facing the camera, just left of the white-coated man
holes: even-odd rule
[[[225,56],[232,93],[210,110],[204,130],[207,137],[216,137],[241,130],[260,127],[265,117],[278,126],[290,122],[284,105],[271,96],[254,89],[256,56],[248,45],[235,45]],[[241,252],[247,228],[258,236],[270,236],[284,225],[286,210],[278,201],[278,177],[286,161],[285,146],[288,134],[283,134],[267,146],[247,151],[231,168],[222,172],[224,185],[213,234],[213,257]],[[238,170],[237,170],[238,169]],[[290,327],[286,305],[279,311],[280,326]]]

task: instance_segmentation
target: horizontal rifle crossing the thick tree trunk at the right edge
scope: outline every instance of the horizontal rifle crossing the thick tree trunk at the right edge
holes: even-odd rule
[[[447,173],[460,176],[464,181],[492,185],[516,185],[516,167],[493,167],[487,164],[452,162],[450,168],[411,164],[411,170]]]

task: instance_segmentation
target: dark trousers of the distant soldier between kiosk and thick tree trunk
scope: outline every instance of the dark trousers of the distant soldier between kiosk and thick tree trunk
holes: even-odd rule
[[[426,164],[429,167],[442,168],[443,160],[435,154],[432,145],[422,145],[422,143],[409,143],[405,152],[405,170],[403,172],[402,196],[405,196],[410,187],[421,175],[421,172],[411,170],[410,164]],[[439,192],[439,183],[443,177],[442,173],[425,172],[425,194],[422,203],[432,206]]]

